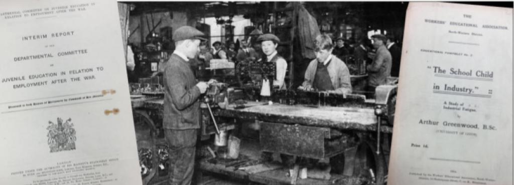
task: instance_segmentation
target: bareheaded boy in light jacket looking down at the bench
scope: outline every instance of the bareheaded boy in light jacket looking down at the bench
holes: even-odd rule
[[[326,34],[316,37],[316,59],[305,70],[305,81],[301,90],[316,89],[337,94],[352,93],[348,67],[332,54],[332,39]]]

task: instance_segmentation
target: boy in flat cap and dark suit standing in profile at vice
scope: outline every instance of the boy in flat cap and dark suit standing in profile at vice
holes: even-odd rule
[[[175,51],[164,64],[164,113],[162,126],[170,146],[169,184],[191,184],[194,169],[195,145],[199,124],[198,98],[207,83],[196,83],[189,60],[199,52],[204,34],[190,26],[173,33]]]

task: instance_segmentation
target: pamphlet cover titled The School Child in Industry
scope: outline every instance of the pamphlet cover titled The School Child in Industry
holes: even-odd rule
[[[390,185],[512,184],[512,9],[410,3]]]

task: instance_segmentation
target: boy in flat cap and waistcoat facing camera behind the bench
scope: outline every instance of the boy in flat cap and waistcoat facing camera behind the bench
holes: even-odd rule
[[[273,79],[273,86],[278,86],[279,89],[286,89],[284,78],[286,77],[287,62],[277,52],[280,39],[274,34],[266,33],[259,36],[257,42],[261,43],[262,51],[266,55],[266,62],[277,64],[277,77]]]

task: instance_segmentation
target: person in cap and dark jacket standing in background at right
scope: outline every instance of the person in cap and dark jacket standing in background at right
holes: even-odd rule
[[[373,47],[377,49],[373,62],[366,66],[368,70],[368,87],[366,91],[370,95],[375,94],[375,88],[386,84],[387,78],[391,76],[391,53],[386,48],[387,37],[383,34],[371,36]]]

